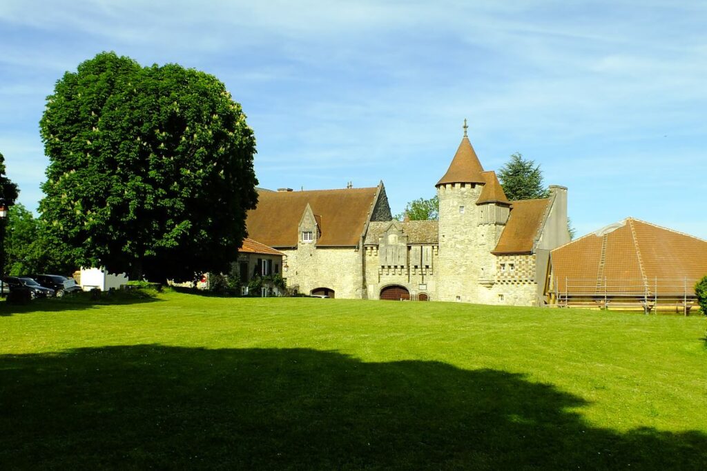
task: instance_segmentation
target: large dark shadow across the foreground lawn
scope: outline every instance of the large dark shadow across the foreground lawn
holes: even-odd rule
[[[0,403],[5,469],[707,465],[699,431],[591,427],[584,400],[522,375],[315,350],[3,355]]]

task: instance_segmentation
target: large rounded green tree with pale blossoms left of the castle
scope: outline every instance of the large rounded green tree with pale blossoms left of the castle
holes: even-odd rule
[[[40,121],[46,244],[131,278],[226,272],[257,203],[255,136],[214,76],[102,53],[66,72]]]

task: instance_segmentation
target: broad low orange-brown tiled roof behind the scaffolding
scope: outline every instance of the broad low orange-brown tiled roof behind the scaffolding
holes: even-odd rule
[[[650,293],[657,279],[660,295],[682,292],[684,280],[691,290],[707,274],[707,241],[632,217],[554,249],[551,257],[561,291],[568,278],[575,292],[603,292],[606,282],[608,291],[642,293],[645,280]]]

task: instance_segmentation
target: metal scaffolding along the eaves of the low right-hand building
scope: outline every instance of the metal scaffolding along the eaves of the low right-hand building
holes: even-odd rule
[[[687,316],[699,307],[691,278],[564,278],[555,277],[554,300],[559,307],[674,311]]]

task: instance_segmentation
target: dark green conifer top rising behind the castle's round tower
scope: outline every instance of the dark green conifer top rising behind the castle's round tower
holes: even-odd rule
[[[547,198],[549,191],[543,185],[540,166],[534,160],[526,160],[521,153],[510,156],[510,161],[498,170],[498,180],[501,181],[506,198],[514,200],[530,200]]]

